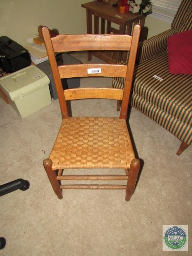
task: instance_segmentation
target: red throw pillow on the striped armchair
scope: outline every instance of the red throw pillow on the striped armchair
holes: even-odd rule
[[[168,38],[169,72],[192,74],[192,29]]]

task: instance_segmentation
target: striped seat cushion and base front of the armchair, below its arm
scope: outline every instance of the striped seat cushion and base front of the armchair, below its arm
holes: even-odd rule
[[[164,52],[137,65],[134,79],[132,106],[191,145],[192,75],[171,74],[168,54]]]

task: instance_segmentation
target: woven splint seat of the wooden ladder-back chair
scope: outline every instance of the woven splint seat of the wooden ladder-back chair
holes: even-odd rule
[[[49,158],[53,170],[129,169],[135,155],[124,119],[70,117],[63,119]]]

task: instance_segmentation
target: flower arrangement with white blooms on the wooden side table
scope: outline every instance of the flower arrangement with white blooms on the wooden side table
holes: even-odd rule
[[[133,0],[128,1],[132,13],[143,13],[146,16],[147,12],[152,11],[152,2],[148,0]]]

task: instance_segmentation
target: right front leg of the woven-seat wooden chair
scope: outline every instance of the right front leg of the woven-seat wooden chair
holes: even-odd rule
[[[137,182],[137,176],[139,174],[140,161],[139,159],[133,159],[131,167],[129,169],[129,179],[126,186],[126,201],[129,201],[135,189]]]

